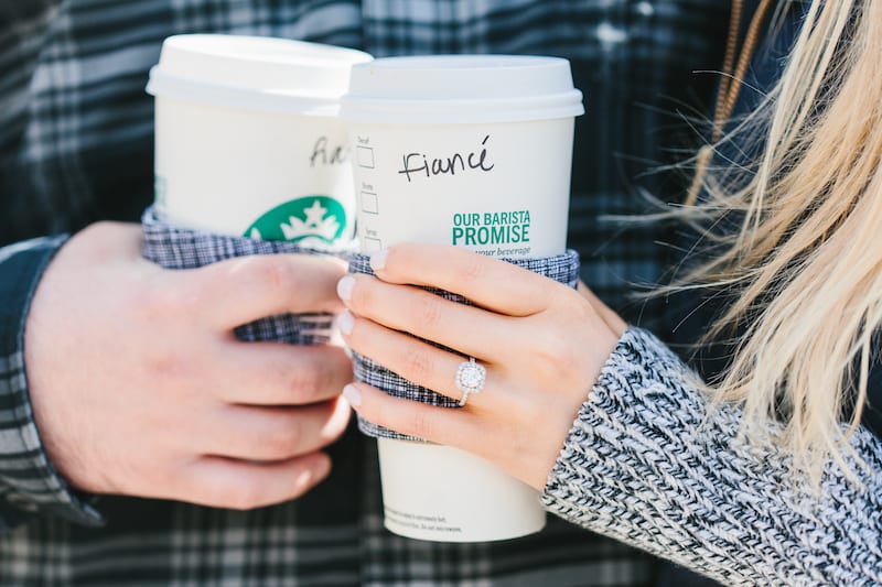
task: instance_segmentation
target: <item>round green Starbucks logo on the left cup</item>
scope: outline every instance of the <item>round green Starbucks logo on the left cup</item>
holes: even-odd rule
[[[332,244],[346,228],[346,210],[334,198],[306,196],[276,206],[254,221],[245,236],[300,242],[318,239]]]

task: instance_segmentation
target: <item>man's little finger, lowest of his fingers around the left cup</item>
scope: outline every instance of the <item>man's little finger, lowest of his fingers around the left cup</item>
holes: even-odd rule
[[[330,471],[323,453],[273,463],[206,456],[186,469],[184,496],[201,506],[250,510],[298,498]]]

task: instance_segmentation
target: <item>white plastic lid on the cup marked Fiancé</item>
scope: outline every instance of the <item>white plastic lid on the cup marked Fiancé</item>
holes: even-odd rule
[[[352,68],[354,122],[514,122],[584,113],[570,63],[521,55],[386,57]]]

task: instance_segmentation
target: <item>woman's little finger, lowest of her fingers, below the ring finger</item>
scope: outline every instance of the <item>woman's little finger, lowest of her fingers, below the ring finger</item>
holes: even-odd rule
[[[349,383],[343,396],[374,424],[432,443],[465,448],[464,441],[486,434],[464,410],[394,398],[365,383]]]

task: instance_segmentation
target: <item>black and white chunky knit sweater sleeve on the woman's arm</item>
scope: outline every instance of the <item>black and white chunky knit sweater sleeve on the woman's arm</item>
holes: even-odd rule
[[[628,329],[549,475],[548,510],[727,585],[882,585],[879,439],[851,437],[858,483],[830,465],[813,491],[786,453],[736,438],[740,410],[709,410],[695,377]]]

